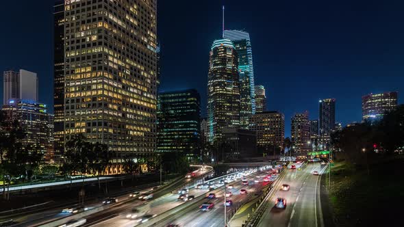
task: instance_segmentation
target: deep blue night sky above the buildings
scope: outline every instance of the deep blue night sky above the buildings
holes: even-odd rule
[[[53,1],[0,4],[0,71],[37,72],[40,101],[53,104]],[[398,91],[403,103],[404,1],[158,4],[161,90],[196,88],[203,114],[210,45],[221,36],[223,4],[225,29],[244,29],[251,36],[255,83],[265,86],[268,109],[285,114],[286,136],[292,114],[308,110],[310,118],[318,118],[319,98],[336,98],[336,120],[343,125],[361,120],[364,94]]]

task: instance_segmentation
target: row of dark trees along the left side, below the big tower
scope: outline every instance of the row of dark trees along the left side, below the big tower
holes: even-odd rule
[[[0,111],[0,185],[3,198],[10,199],[10,185],[31,181],[34,177],[53,178],[55,174],[70,179],[77,175],[96,176],[101,189],[100,176],[115,165],[123,172],[134,176],[142,174],[142,168],[151,171],[162,168],[166,174],[185,173],[189,163],[182,153],[158,154],[152,157],[126,157],[116,159],[116,154],[106,144],[92,143],[84,135],[75,135],[66,142],[63,162],[47,164],[44,152],[39,146],[27,146],[22,143],[27,133],[17,120],[10,120]],[[83,185],[84,185],[83,177]],[[105,184],[106,186],[106,184]]]

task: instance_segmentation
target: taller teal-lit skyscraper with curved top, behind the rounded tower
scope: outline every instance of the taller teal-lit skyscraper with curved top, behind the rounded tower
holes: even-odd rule
[[[223,38],[233,42],[238,54],[240,80],[240,127],[248,128],[249,119],[255,114],[255,83],[253,51],[249,33],[240,30],[224,30]]]

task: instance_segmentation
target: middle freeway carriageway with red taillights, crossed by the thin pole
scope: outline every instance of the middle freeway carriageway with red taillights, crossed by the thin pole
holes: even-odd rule
[[[263,176],[266,175],[265,172],[257,172],[252,174],[251,176],[247,177],[249,180],[248,186],[243,186],[240,181],[237,183],[230,183],[233,185],[233,189],[228,189],[227,191],[231,191],[233,196],[231,196],[231,200],[233,200],[232,206],[227,206],[227,215],[233,212],[238,204],[240,204],[243,200],[247,198],[246,195],[240,194],[240,189],[247,189],[248,193],[255,193],[257,191],[261,191],[262,187],[268,185],[269,183],[262,182],[263,178],[260,178],[260,183],[254,183],[256,179],[255,176]],[[157,224],[156,226],[167,226],[168,224],[177,224],[179,226],[190,226],[190,227],[197,227],[197,226],[224,226],[224,216],[225,210],[223,206],[224,202],[224,189],[221,189],[219,193],[216,193],[218,198],[214,200],[205,199],[202,202],[197,204],[193,204],[192,206],[188,207],[184,211],[177,213],[171,219],[164,220]],[[203,202],[213,202],[214,208],[210,211],[200,211],[199,206]]]

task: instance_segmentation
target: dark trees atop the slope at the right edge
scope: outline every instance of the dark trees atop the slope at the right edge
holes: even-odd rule
[[[380,120],[345,127],[331,135],[331,144],[342,157],[357,165],[366,165],[380,155],[402,152],[404,147],[404,105],[399,105]]]

